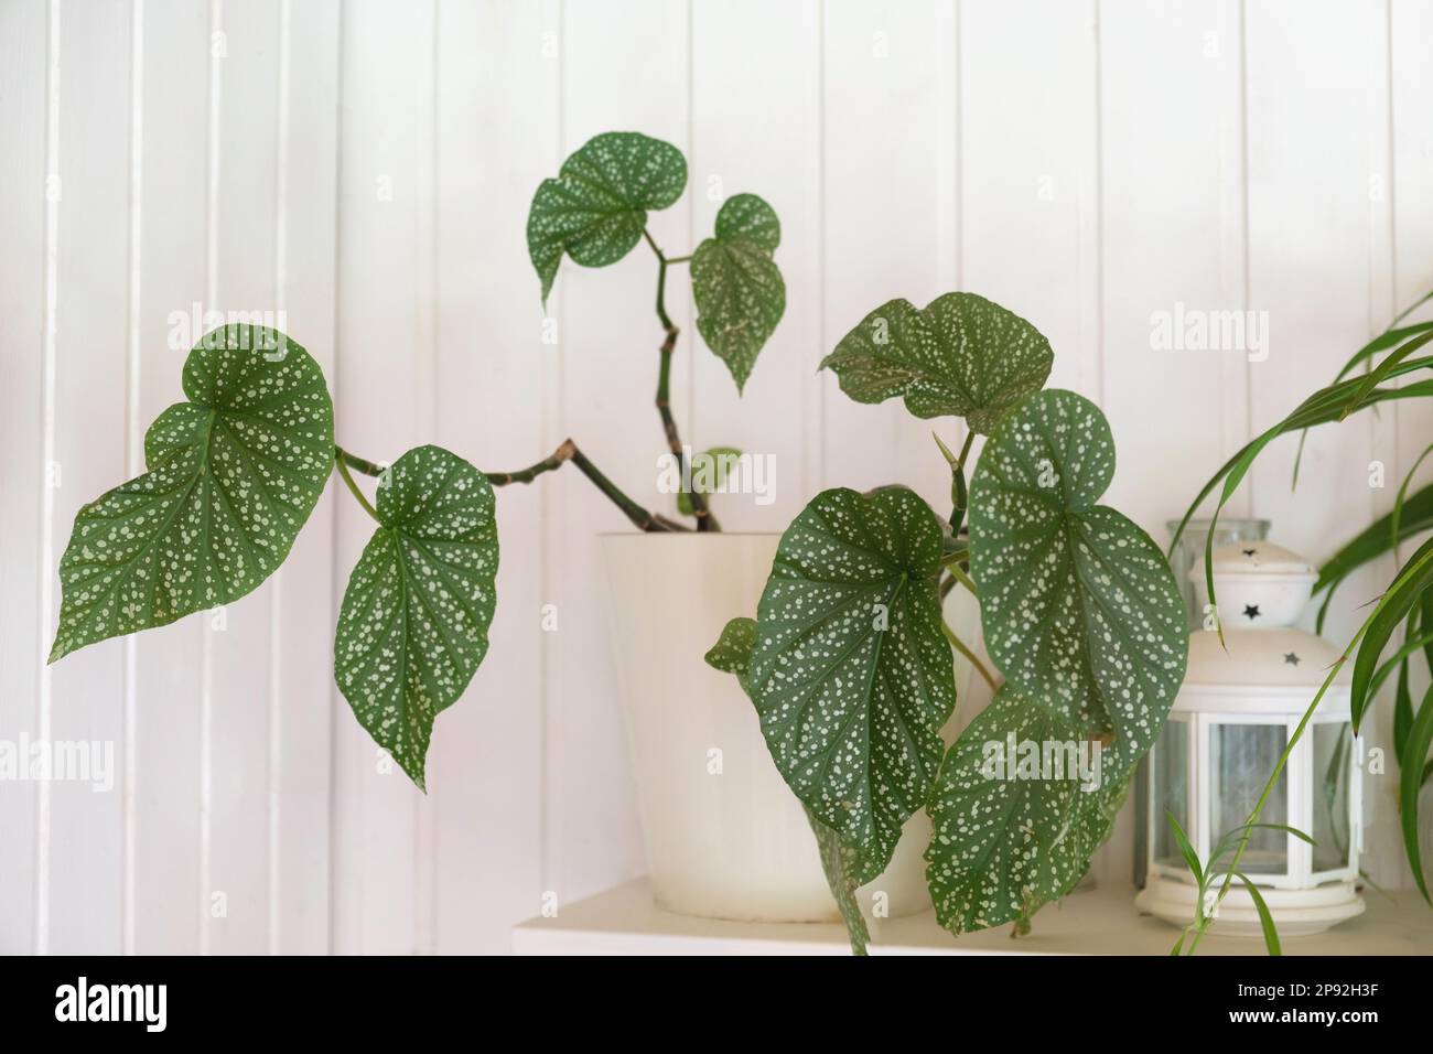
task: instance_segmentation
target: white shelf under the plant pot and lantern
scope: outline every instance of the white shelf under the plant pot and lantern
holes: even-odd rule
[[[1414,892],[1364,891],[1369,909],[1317,936],[1283,941],[1285,955],[1433,955],[1433,909]],[[1176,931],[1139,915],[1128,886],[1073,893],[1035,916],[1029,936],[1010,926],[953,938],[933,912],[871,921],[873,955],[1168,955]],[[1201,955],[1264,955],[1262,939],[1219,938]],[[631,882],[513,928],[519,955],[848,955],[838,924],[722,922],[674,915]]]

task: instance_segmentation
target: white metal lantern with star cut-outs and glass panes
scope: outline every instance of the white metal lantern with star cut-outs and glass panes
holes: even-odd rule
[[[1212,630],[1189,635],[1189,667],[1149,764],[1148,882],[1141,911],[1185,926],[1197,889],[1165,810],[1208,863],[1209,850],[1252,810],[1338,650],[1291,622],[1317,579],[1304,558],[1270,542],[1214,551],[1214,585],[1225,647]],[[1189,572],[1208,602],[1202,561]],[[1363,911],[1356,888],[1363,842],[1363,743],[1348,723],[1348,671],[1341,670],[1290,754],[1260,815],[1307,832],[1257,829],[1238,870],[1264,893],[1283,935],[1317,934]],[[1228,866],[1230,858],[1215,862]],[[1218,888],[1218,883],[1214,883]],[[1261,932],[1254,901],[1235,882],[1215,931]]]

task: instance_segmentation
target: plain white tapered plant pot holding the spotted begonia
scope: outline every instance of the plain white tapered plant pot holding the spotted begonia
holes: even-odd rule
[[[704,661],[729,618],[757,614],[780,535],[602,536],[612,645],[656,903],[755,922],[835,921],[815,837],[737,678]],[[868,915],[930,906],[930,820],[906,825]]]

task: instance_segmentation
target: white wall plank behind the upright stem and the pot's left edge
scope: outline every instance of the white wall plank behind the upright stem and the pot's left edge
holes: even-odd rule
[[[642,26],[612,33],[612,26]],[[689,151],[688,23],[679,4],[633,0],[570,3],[562,26],[562,155],[599,132],[639,130]],[[549,172],[550,175],[550,172]],[[689,198],[648,219],[658,245],[685,247]],[[628,495],[672,512],[656,490],[665,450],[652,409],[661,326],[652,310],[656,261],[645,245],[615,267],[565,261],[562,288],[562,423]],[[688,406],[689,311],[675,301],[682,341],[672,369],[672,403]],[[681,422],[691,430],[691,422]],[[685,437],[685,436],[684,436]],[[641,875],[641,827],[631,786],[622,713],[608,645],[598,532],[631,525],[576,475],[550,480],[555,549],[550,602],[559,630],[549,640],[547,793],[550,878],[562,903]]]

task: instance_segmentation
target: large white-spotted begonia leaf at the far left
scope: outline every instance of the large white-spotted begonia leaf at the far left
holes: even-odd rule
[[[214,330],[185,360],[183,391],[145,435],[148,472],[75,518],[52,663],[252,592],[324,490],[332,402],[282,333]]]

